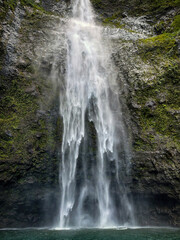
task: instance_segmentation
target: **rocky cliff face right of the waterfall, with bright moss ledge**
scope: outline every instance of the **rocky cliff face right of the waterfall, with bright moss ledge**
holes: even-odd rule
[[[106,26],[119,27],[112,56],[130,115],[135,212],[144,224],[179,226],[179,8],[94,4]]]

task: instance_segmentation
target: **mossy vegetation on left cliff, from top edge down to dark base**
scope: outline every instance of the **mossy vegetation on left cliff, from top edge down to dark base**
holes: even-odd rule
[[[20,4],[22,11],[25,12],[22,12],[22,20],[19,22],[16,20],[17,16],[14,12],[18,2],[5,1],[3,4],[1,3],[5,24],[7,26],[17,24],[16,28],[13,28],[14,42],[10,40],[10,38],[14,38],[11,28],[4,30],[1,25],[0,164],[2,171],[0,182],[2,185],[9,181],[23,183],[32,176],[33,182],[42,183],[47,181],[49,171],[53,176],[58,173],[53,169],[56,169],[58,161],[55,148],[60,133],[57,132],[56,127],[52,129],[52,125],[56,126],[56,122],[59,120],[58,116],[52,119],[51,111],[54,103],[48,103],[43,95],[50,86],[36,72],[36,67],[33,65],[32,59],[28,57],[28,53],[27,56],[23,56],[21,51],[24,44],[30,48],[32,44],[30,43],[31,31],[37,35],[43,25],[45,20],[42,13],[44,10],[35,1],[22,0]],[[25,6],[31,8],[24,9]],[[30,26],[26,24],[30,24]],[[8,35],[10,35],[9,39]],[[37,44],[37,42],[33,44]],[[41,110],[40,105],[43,101],[49,104],[48,109]],[[57,104],[55,103],[55,105]],[[52,160],[55,162],[54,166]],[[41,177],[38,171],[37,175],[35,174],[37,169],[42,170]],[[57,176],[50,179],[50,181],[56,182],[57,180]]]

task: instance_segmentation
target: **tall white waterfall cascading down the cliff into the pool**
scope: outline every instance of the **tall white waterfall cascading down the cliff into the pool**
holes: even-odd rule
[[[60,94],[64,130],[58,227],[132,224],[122,180],[130,150],[110,58],[90,1],[72,4],[65,89]]]

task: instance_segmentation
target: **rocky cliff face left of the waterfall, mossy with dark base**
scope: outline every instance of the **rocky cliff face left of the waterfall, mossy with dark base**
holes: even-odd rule
[[[53,222],[59,196],[62,121],[42,57],[59,18],[44,10],[48,2],[12,2],[0,5],[0,225],[42,226]]]

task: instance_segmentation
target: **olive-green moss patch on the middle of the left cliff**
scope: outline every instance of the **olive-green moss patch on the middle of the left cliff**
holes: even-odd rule
[[[32,80],[27,82],[23,76],[11,79],[11,82],[9,80],[4,78],[8,87],[1,94],[0,158],[2,162],[8,161],[11,164],[5,175],[1,174],[1,179],[8,180],[8,176],[24,179],[27,171],[20,170],[24,164],[29,169],[28,174],[36,175],[35,169],[43,169],[44,164],[48,167],[50,162],[52,164],[52,161],[57,161],[55,156],[48,161],[51,153],[56,151],[56,135],[51,131],[52,123],[48,121],[48,116],[37,117],[40,96],[26,93]],[[46,174],[46,169],[42,170],[42,175],[43,173]],[[43,177],[37,179],[39,182],[45,181]]]

